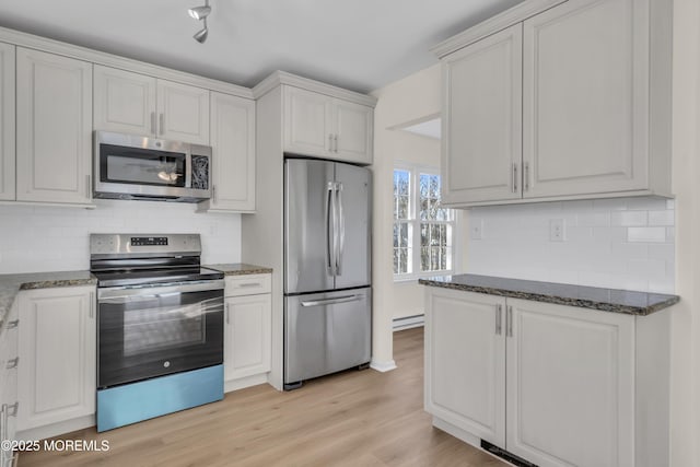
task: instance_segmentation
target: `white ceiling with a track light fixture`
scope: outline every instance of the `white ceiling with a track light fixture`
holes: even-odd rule
[[[275,70],[370,92],[436,62],[429,49],[522,0],[15,0],[0,26],[252,87]]]

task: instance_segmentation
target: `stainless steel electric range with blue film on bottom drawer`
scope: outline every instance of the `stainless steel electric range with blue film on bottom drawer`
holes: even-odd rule
[[[223,398],[223,273],[198,234],[92,234],[97,431]]]

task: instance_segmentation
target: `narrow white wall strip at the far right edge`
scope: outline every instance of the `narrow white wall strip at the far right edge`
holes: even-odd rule
[[[674,1],[673,156],[676,292],[672,310],[673,467],[700,465],[700,4]]]

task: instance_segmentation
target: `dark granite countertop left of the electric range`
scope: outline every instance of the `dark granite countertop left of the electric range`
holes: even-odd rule
[[[97,279],[90,271],[30,272],[0,275],[0,322],[10,312],[18,292],[54,287],[92,285]],[[0,328],[0,332],[1,332]]]

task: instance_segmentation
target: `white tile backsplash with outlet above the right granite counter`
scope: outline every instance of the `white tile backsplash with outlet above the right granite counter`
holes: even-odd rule
[[[674,292],[674,201],[618,198],[474,208],[467,272]],[[550,241],[561,220],[564,240]]]

